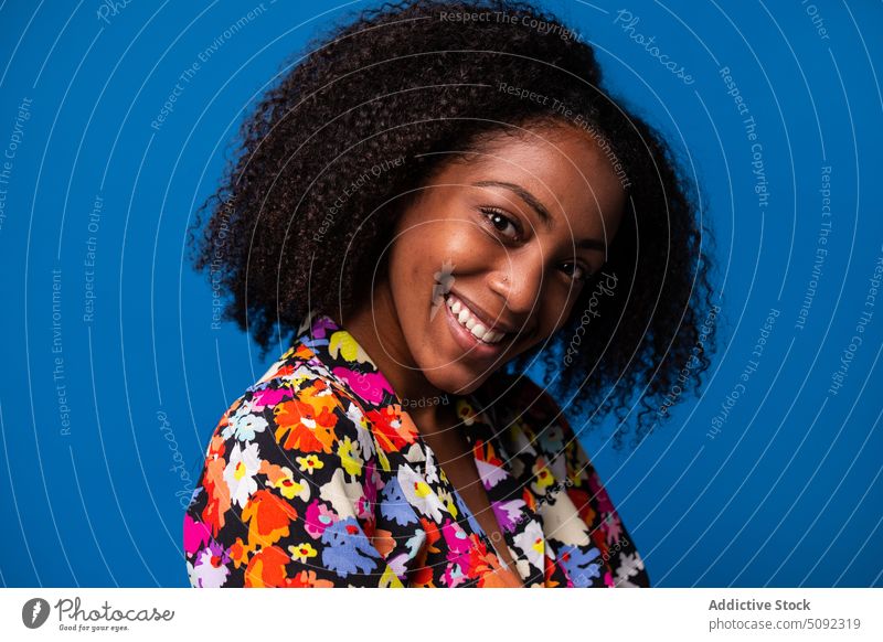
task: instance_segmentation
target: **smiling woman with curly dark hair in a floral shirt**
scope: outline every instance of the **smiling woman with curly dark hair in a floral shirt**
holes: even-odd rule
[[[530,4],[384,4],[309,51],[196,224],[227,318],[295,336],[210,439],[192,586],[649,586],[520,373],[585,416],[639,390],[647,434],[709,306],[667,147]]]

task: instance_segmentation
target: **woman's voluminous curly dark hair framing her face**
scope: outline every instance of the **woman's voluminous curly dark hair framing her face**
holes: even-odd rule
[[[526,2],[386,2],[283,68],[190,229],[195,268],[228,296],[223,318],[251,330],[262,356],[308,311],[360,303],[396,217],[443,163],[494,136],[570,122],[625,176],[626,211],[598,272],[617,287],[599,296],[587,282],[556,335],[506,370],[539,357],[565,407],[614,413],[617,447],[632,404],[636,442],[699,389],[714,307],[693,189],[662,137],[603,89],[593,49],[561,20]]]

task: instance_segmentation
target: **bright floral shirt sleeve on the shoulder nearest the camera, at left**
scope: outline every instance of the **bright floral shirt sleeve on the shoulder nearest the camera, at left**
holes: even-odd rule
[[[365,426],[304,365],[246,390],[212,435],[184,516],[191,586],[402,586],[372,543]]]

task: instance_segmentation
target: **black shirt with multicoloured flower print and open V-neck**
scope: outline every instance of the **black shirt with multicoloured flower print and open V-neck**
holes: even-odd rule
[[[480,390],[449,403],[523,586],[649,586],[551,397],[502,373]],[[183,526],[193,587],[502,586],[402,399],[325,314],[223,415]]]

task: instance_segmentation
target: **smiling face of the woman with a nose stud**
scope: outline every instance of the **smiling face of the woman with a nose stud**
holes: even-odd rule
[[[501,137],[447,163],[387,248],[392,310],[374,322],[394,314],[386,328],[402,338],[384,350],[442,390],[472,392],[566,322],[606,260],[624,200],[604,153],[570,126]]]

